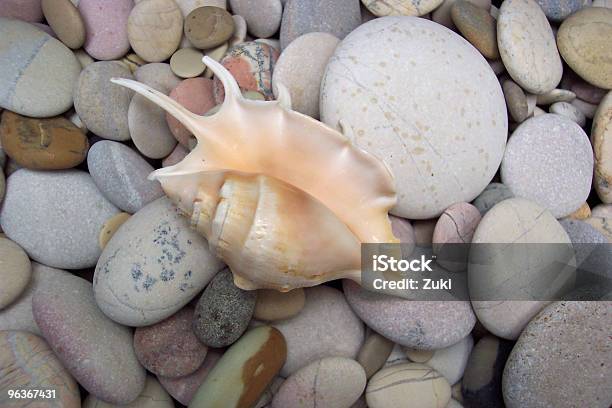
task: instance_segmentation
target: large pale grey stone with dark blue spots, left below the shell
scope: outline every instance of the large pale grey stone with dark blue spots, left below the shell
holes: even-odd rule
[[[100,309],[127,326],[162,321],[221,269],[206,240],[166,197],[143,207],[100,256],[94,292]]]

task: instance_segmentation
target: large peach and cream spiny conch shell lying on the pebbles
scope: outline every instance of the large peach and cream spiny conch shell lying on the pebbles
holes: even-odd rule
[[[225,87],[211,116],[135,81],[113,79],[176,117],[197,139],[180,163],[151,173],[191,217],[243,289],[282,291],[360,281],[361,243],[398,242],[396,195],[385,165],[319,121],[279,101],[242,97],[231,74],[204,63]]]

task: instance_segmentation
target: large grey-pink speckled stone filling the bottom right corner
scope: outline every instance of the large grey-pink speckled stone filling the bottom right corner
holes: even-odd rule
[[[506,406],[608,407],[610,327],[609,302],[555,302],[544,309],[525,328],[506,363]]]

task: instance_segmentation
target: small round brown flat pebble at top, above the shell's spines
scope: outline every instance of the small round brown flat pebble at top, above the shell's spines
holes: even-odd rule
[[[232,15],[219,7],[199,7],[185,17],[185,36],[194,47],[214,48],[234,33]]]

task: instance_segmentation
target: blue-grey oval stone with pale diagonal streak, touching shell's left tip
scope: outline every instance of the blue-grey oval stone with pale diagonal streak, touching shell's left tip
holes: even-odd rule
[[[87,166],[102,194],[128,213],[164,195],[158,181],[147,180],[153,167],[119,142],[103,140],[94,144],[87,155]]]

